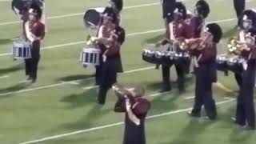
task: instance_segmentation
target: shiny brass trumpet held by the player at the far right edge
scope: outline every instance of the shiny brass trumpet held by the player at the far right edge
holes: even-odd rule
[[[228,52],[230,54],[241,55],[242,50],[250,50],[246,42],[240,42],[238,38],[230,38],[228,43]]]

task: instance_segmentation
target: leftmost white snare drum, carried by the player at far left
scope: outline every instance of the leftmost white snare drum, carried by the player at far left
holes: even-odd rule
[[[12,51],[15,59],[29,59],[31,58],[31,43],[25,41],[14,41]]]

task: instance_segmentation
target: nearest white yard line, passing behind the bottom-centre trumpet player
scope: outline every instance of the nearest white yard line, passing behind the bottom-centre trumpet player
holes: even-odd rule
[[[234,99],[229,99],[229,100],[226,100],[226,101],[217,102],[216,104],[217,105],[222,105],[224,103],[232,102],[232,101],[234,101]],[[174,111],[170,111],[170,112],[166,112],[166,113],[162,113],[162,114],[151,115],[151,116],[147,117],[146,119],[164,117],[164,116],[167,116],[167,115],[178,114],[178,113],[186,112],[186,111],[189,111],[189,110],[192,110],[192,107],[187,108],[187,109],[174,110]],[[124,122],[116,122],[116,123],[112,123],[112,124],[105,125],[105,126],[97,126],[97,127],[93,127],[93,128],[90,128],[90,129],[77,130],[77,131],[66,133],[66,134],[58,134],[58,135],[54,135],[54,136],[50,136],[50,137],[46,137],[46,138],[40,138],[40,139],[28,141],[28,142],[21,142],[19,144],[30,144],[30,143],[36,143],[36,142],[45,142],[45,141],[49,141],[49,140],[56,139],[56,138],[67,137],[67,136],[71,136],[71,135],[75,135],[75,134],[88,133],[88,132],[91,132],[91,131],[102,130],[102,129],[106,129],[106,128],[113,127],[113,126],[120,126],[120,125],[123,125],[123,124],[124,124]]]

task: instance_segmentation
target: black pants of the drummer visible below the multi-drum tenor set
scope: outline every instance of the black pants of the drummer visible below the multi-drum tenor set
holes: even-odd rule
[[[170,67],[171,65],[162,65],[162,81],[163,89],[170,89]],[[174,64],[177,75],[178,75],[178,89],[184,90],[184,81],[185,81],[185,64],[176,63]]]

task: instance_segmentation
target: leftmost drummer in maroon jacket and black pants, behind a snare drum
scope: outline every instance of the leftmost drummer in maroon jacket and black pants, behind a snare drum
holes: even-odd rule
[[[38,62],[40,60],[40,41],[45,36],[45,26],[40,22],[42,10],[38,5],[32,5],[28,11],[28,20],[25,22],[26,39],[32,43],[31,56],[26,59],[27,80],[36,82],[38,74]]]

